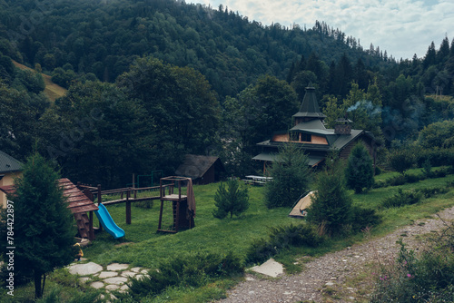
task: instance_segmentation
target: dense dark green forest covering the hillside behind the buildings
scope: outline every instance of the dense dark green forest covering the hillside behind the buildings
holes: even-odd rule
[[[50,103],[39,73],[69,89]],[[346,112],[384,148],[454,117],[454,40],[397,60],[325,22],[263,25],[182,1],[0,0],[0,150],[37,150],[74,181],[125,184],[173,172],[184,153],[253,170],[257,142],[285,130],[304,88],[330,125]]]

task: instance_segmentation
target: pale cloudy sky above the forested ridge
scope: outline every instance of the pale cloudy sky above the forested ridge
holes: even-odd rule
[[[189,2],[189,1],[188,1]],[[439,49],[454,35],[453,0],[192,0],[219,5],[264,25],[306,25],[316,20],[353,36],[364,49],[380,46],[397,60],[424,57],[433,41]]]

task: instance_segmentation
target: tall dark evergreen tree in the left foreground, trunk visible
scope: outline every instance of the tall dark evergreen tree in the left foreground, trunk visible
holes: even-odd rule
[[[33,277],[35,298],[43,296],[45,275],[74,259],[74,220],[58,179],[58,173],[35,154],[15,180],[15,194],[8,196],[15,205],[15,272]]]

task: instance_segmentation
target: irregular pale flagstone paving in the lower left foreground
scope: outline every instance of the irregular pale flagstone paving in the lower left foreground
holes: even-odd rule
[[[86,259],[82,259],[84,260]],[[120,263],[109,264],[104,269],[94,262],[74,262],[68,266],[68,269],[72,275],[78,275],[82,282],[89,283],[92,288],[103,288],[106,292],[125,291],[128,288],[126,283],[129,278],[141,279],[148,272],[148,269],[130,268],[129,264]]]

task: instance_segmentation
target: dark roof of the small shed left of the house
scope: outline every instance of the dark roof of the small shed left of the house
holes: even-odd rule
[[[198,179],[214,164],[219,165],[222,171],[224,170],[222,162],[218,157],[187,154],[184,156],[183,163],[175,171],[175,174]]]

